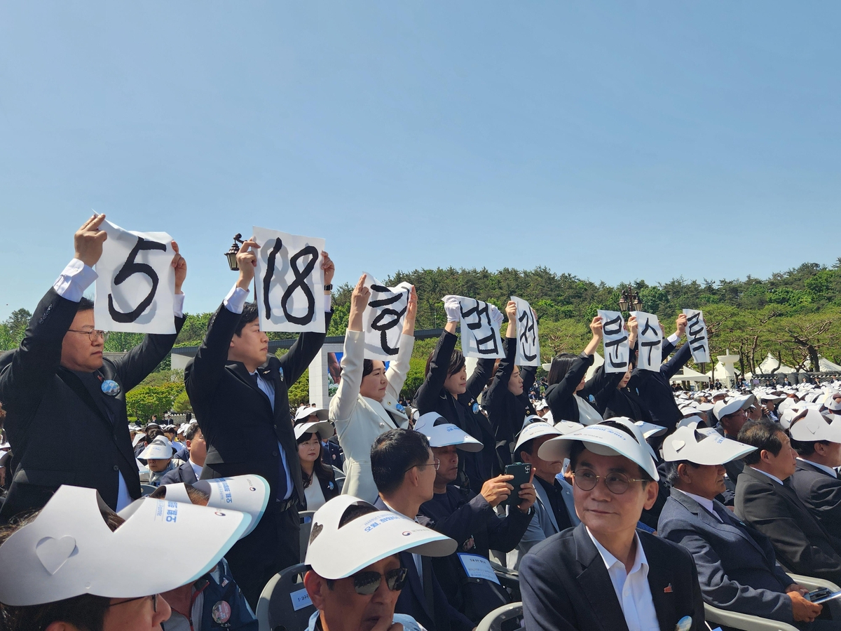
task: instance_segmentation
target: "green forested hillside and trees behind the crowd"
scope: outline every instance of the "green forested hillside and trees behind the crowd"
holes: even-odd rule
[[[841,363],[841,257],[832,265],[807,262],[798,268],[774,273],[770,278],[718,281],[674,278],[668,283],[649,285],[643,280],[621,283],[615,287],[594,283],[568,273],[554,273],[547,268],[491,272],[488,269],[416,269],[399,271],[380,279],[389,286],[402,281],[415,285],[418,294],[418,329],[444,326],[442,296],[457,294],[489,301],[499,307],[509,296],[528,300],[537,311],[542,359],[549,361],[562,352],[578,353],[590,338],[589,323],[598,309],[618,309],[622,289],[630,286],[643,301],[643,310],[655,313],[664,322],[666,332],[674,330],[674,318],[685,308],[704,310],[710,335],[711,353],[727,349],[741,357],[743,372],[756,372],[768,353],[795,369],[808,370],[818,356]],[[344,284],[333,297],[334,315],[328,335],[341,336],[347,326],[352,286]],[[13,312],[0,324],[0,349],[17,347],[23,338],[31,313]],[[176,346],[195,346],[201,342],[210,314],[188,315]],[[270,334],[279,339],[284,334]],[[140,341],[140,334],[112,333],[106,351],[124,351]],[[415,343],[412,369],[405,391],[413,392],[421,383],[426,356],[434,340]],[[709,367],[696,366],[702,372]],[[151,375],[132,393],[135,416],[144,418],[151,410],[166,408],[188,410],[189,401],[178,387],[180,375],[171,374],[168,362],[161,364],[158,375]],[[306,400],[306,382],[294,388],[297,400]],[[165,394],[161,394],[165,391]],[[155,400],[161,394],[161,400]],[[142,401],[140,401],[142,399]],[[162,406],[162,407],[161,407]],[[167,408],[168,409],[168,408]],[[159,413],[159,412],[157,412]]]

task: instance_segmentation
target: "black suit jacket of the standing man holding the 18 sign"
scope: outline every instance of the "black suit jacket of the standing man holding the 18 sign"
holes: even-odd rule
[[[330,326],[332,312],[325,315]],[[291,483],[304,497],[298,443],[289,416],[288,388],[307,369],[324,344],[325,334],[301,333],[283,358],[270,355],[258,369],[274,385],[274,410],[241,362],[228,361],[228,348],[240,314],[221,305],[210,319],[201,347],[184,370],[184,384],[198,427],[208,444],[202,479],[262,475],[278,498],[281,465],[278,443],[286,454]],[[294,497],[294,494],[293,494]],[[270,501],[269,506],[272,506]]]

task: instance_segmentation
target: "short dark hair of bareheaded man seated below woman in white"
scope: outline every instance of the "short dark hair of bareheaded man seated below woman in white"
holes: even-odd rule
[[[429,459],[429,441],[421,432],[392,429],[371,447],[371,472],[380,493],[389,495],[403,484],[406,471]]]

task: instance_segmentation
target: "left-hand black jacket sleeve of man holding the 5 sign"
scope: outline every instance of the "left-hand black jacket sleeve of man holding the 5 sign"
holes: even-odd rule
[[[61,365],[61,341],[70,328],[79,303],[66,300],[50,289],[35,308],[20,346],[11,353],[0,371],[0,401],[6,419],[29,426],[47,384]],[[15,428],[25,432],[26,427]]]

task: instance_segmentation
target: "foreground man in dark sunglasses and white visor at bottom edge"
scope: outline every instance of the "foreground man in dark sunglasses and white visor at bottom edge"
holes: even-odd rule
[[[395,613],[415,554],[451,554],[456,544],[410,519],[353,496],[328,501],[313,516],[304,588],[315,611],[307,631],[421,631]],[[408,563],[409,565],[405,565]]]

